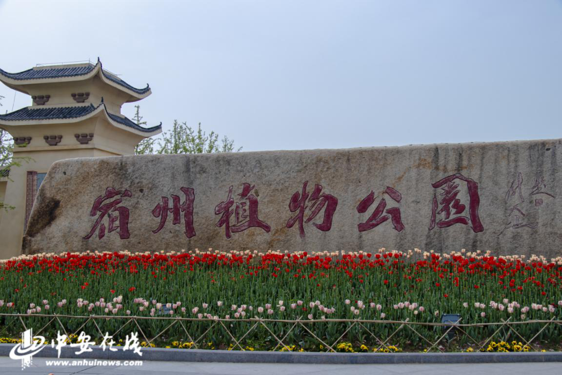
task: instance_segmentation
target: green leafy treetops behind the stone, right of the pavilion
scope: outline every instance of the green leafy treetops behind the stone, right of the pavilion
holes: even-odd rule
[[[138,125],[146,124],[142,121],[139,114],[140,106],[137,109],[133,120]],[[209,153],[209,152],[238,152],[242,147],[235,148],[234,141],[226,137],[220,139],[219,134],[211,132],[207,134],[201,128],[201,123],[194,129],[187,123],[180,123],[174,120],[171,130],[166,130],[158,138],[146,138],[135,148],[137,155],[148,153]]]

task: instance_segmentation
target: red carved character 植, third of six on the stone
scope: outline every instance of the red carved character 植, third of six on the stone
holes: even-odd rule
[[[242,192],[238,194],[238,201],[234,201],[232,197],[233,186],[228,189],[228,197],[226,201],[220,202],[215,207],[215,215],[221,215],[217,227],[223,227],[226,238],[232,237],[230,234],[246,231],[248,228],[256,227],[263,229],[269,233],[271,227],[257,217],[258,201],[257,197],[252,194],[254,185],[244,183]],[[232,209],[234,206],[234,210]],[[230,224],[230,217],[234,215],[234,224]]]

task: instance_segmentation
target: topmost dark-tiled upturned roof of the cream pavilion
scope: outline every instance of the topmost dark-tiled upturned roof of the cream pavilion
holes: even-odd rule
[[[134,99],[130,101],[137,101],[151,94],[151,89],[148,84],[144,88],[136,88],[126,83],[118,76],[104,70],[99,58],[95,65],[87,63],[70,66],[41,66],[20,71],[19,73],[8,73],[0,69],[0,81],[21,92],[25,92],[22,85],[26,84],[80,81],[91,78],[94,75],[99,75],[99,78],[101,78],[103,82],[131,94]]]

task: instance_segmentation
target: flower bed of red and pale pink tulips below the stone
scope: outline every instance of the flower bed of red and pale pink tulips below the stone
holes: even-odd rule
[[[39,254],[0,263],[0,336],[25,324],[183,349],[560,350],[561,282],[562,258],[465,251]]]

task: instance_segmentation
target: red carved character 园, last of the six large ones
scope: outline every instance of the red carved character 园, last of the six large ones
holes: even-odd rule
[[[466,206],[461,204],[457,196],[460,193],[459,181],[466,183],[469,196],[468,216],[462,215]],[[436,227],[447,228],[454,224],[469,225],[474,233],[482,232],[484,227],[478,216],[478,206],[480,205],[480,196],[478,195],[478,183],[473,179],[466,178],[460,173],[456,173],[439,180],[432,184],[433,188],[441,189],[441,192],[434,193],[431,222],[429,230]],[[443,215],[439,221],[437,215]]]

